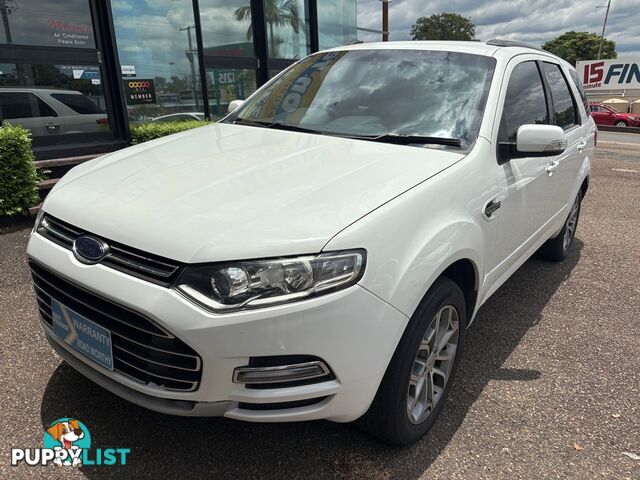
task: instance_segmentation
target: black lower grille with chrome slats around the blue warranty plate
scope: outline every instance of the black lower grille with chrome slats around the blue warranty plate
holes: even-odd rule
[[[126,307],[71,283],[30,262],[31,277],[43,320],[52,327],[51,299],[111,332],[114,370],[166,390],[197,390],[200,356],[187,344]]]

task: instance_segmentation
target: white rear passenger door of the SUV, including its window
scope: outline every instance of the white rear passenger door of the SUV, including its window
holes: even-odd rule
[[[555,62],[544,61],[542,67],[552,106],[551,123],[564,130],[567,141],[565,151],[547,166],[548,181],[545,196],[550,218],[564,221],[566,216],[564,212],[573,200],[570,196],[573,196],[588,139],[567,72]]]

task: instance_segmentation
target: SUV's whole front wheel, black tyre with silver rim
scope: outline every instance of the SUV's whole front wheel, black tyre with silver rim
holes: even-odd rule
[[[362,428],[394,445],[420,439],[440,414],[455,376],[466,327],[464,294],[438,279],[411,317]]]

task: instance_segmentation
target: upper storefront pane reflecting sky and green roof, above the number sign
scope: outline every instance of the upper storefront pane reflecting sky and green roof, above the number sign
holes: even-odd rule
[[[252,57],[249,0],[200,0],[204,55]]]

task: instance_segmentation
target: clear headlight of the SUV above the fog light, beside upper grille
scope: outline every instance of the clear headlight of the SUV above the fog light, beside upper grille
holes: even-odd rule
[[[347,288],[364,273],[364,250],[187,267],[176,288],[213,311],[258,308]]]

